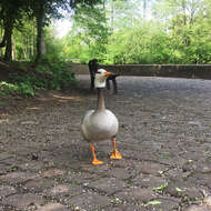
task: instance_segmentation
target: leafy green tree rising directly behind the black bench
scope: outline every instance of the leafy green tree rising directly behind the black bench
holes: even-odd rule
[[[96,6],[78,6],[73,28],[64,39],[63,51],[67,59],[79,59],[82,63],[87,63],[92,57],[101,60],[109,36],[103,7],[100,1]]]

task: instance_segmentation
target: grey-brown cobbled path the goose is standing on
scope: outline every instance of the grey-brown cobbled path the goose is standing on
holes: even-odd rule
[[[96,93],[79,80],[1,115],[0,210],[211,210],[211,81],[119,77],[105,103],[123,159],[110,160],[105,141],[97,145],[104,164],[92,167],[80,122]]]

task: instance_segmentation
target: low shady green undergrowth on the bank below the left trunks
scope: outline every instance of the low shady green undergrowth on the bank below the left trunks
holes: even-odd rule
[[[11,64],[11,67],[14,64]],[[36,68],[16,63],[18,71],[0,82],[0,94],[33,97],[39,90],[64,90],[76,83],[74,73],[66,62],[40,62]]]

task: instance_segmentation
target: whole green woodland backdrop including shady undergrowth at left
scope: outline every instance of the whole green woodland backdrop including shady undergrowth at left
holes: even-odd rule
[[[64,13],[72,27],[59,38],[54,22]],[[210,0],[1,0],[0,93],[64,89],[76,81],[68,66],[93,58],[209,64],[210,31]]]

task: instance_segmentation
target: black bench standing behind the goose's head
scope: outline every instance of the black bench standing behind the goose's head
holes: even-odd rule
[[[91,86],[90,89],[93,90],[94,89],[94,76],[96,72],[98,71],[98,60],[97,59],[92,59],[89,61],[89,71],[90,71],[90,79],[91,79]],[[115,81],[115,78],[119,77],[119,74],[112,73],[107,78],[107,89],[110,90],[110,80],[112,81],[113,84],[113,93],[118,93],[118,84]]]

